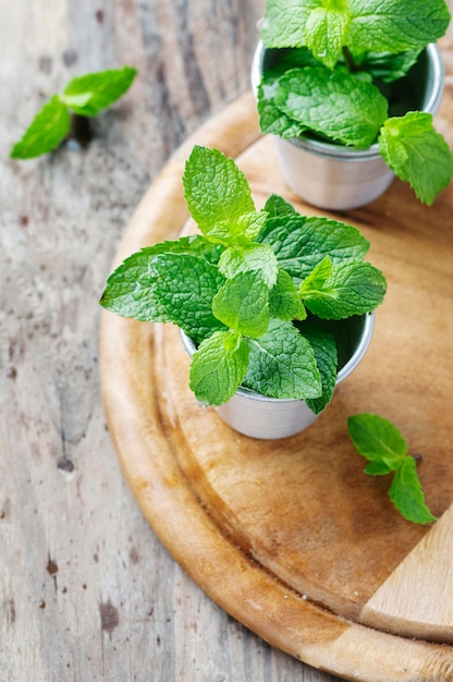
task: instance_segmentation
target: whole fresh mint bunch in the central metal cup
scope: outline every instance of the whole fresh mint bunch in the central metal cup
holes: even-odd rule
[[[369,243],[276,195],[256,210],[244,174],[216,149],[193,149],[183,184],[201,234],[132,255],[108,279],[101,305],[173,322],[192,338],[189,382],[204,404],[220,405],[243,385],[319,413],[338,350],[317,322],[364,315],[385,293],[382,273],[363,259]]]

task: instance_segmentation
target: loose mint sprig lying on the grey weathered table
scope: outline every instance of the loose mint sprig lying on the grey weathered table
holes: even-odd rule
[[[13,159],[32,159],[56,149],[71,129],[71,111],[96,117],[131,87],[136,69],[123,66],[73,78],[63,93],[53,95],[36,114],[22,138],[13,146]]]

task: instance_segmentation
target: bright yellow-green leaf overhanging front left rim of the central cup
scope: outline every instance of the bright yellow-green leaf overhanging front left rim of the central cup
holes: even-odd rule
[[[248,345],[231,331],[217,331],[192,358],[189,386],[205,405],[221,405],[241,385],[248,364]]]

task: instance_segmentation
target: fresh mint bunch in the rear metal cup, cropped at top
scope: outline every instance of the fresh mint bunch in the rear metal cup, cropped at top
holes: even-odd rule
[[[315,134],[356,149],[378,142],[389,168],[431,205],[451,181],[451,150],[432,114],[389,118],[389,84],[408,73],[449,22],[444,0],[267,0],[265,46],[294,49],[282,50],[262,75],[262,132]]]

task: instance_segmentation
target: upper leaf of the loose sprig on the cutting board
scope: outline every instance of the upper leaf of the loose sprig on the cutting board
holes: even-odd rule
[[[396,426],[377,414],[348,417],[347,430],[357,452],[369,462],[392,462],[395,468],[407,454],[407,443]]]

